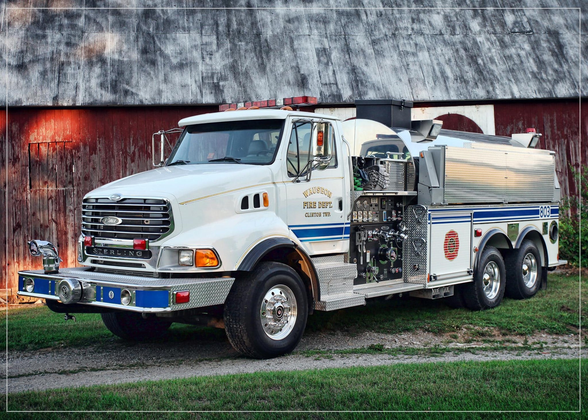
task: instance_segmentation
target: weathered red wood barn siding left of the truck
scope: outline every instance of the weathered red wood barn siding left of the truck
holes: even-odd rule
[[[52,241],[62,265],[75,266],[83,195],[151,169],[153,132],[214,111],[217,106],[10,108],[7,164],[6,114],[0,115],[0,289],[14,294],[18,270],[42,268],[40,258],[29,256],[27,239]]]

